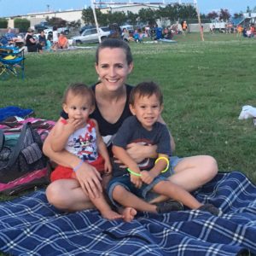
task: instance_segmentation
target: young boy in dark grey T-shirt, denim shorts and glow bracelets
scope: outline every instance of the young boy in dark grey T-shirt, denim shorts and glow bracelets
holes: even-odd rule
[[[189,192],[166,178],[171,174],[166,171],[171,155],[170,133],[166,125],[158,122],[163,110],[163,96],[158,85],[153,82],[138,84],[131,90],[129,104],[134,116],[125,119],[113,138],[114,156],[122,162],[122,166],[128,167],[113,166],[113,178],[108,183],[108,196],[113,204],[117,207],[133,207],[138,211],[168,212],[168,209],[161,209],[158,205],[150,205],[140,199],[146,198],[148,192],[153,190],[191,209],[218,215],[218,208],[210,204],[202,205]],[[156,145],[158,155],[137,164],[125,151],[129,143]]]

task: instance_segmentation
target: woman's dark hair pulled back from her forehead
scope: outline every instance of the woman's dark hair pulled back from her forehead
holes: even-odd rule
[[[96,64],[98,64],[98,62],[99,62],[99,52],[100,52],[100,50],[105,49],[105,48],[123,49],[125,51],[127,64],[128,65],[131,64],[132,55],[131,55],[130,46],[127,43],[125,43],[125,41],[117,39],[117,38],[107,38],[107,39],[103,40],[101,44],[99,44],[98,48],[96,49]]]

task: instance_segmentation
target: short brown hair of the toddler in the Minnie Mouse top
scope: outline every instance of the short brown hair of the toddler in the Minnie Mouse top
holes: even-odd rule
[[[86,84],[83,83],[74,83],[70,84],[65,90],[62,103],[67,103],[67,96],[69,94],[73,96],[89,96],[91,100],[91,105],[95,105],[95,96],[93,91]]]

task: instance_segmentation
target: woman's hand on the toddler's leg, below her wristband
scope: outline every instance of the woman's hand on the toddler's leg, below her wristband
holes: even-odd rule
[[[94,166],[83,163],[76,171],[76,177],[84,190],[85,195],[90,198],[98,198],[102,193],[102,177]]]

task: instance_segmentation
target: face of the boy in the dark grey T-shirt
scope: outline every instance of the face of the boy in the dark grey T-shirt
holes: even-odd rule
[[[157,96],[135,96],[134,105],[130,105],[131,113],[137,116],[143,127],[151,130],[159,119],[163,106],[160,105]]]

